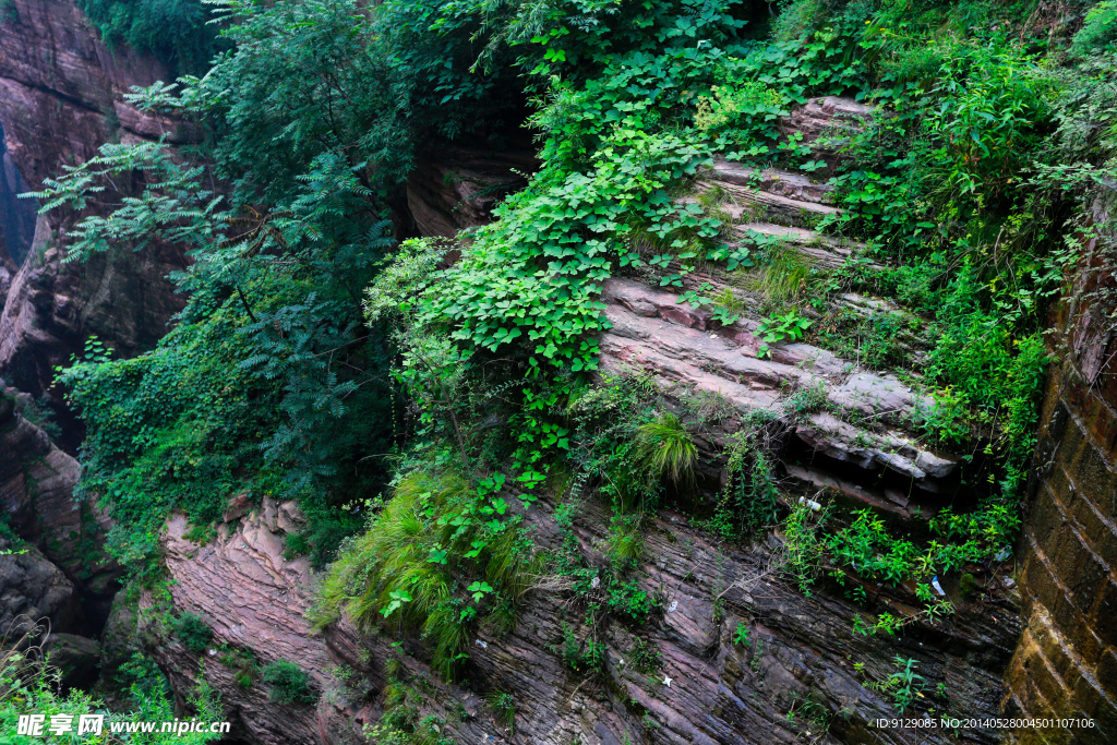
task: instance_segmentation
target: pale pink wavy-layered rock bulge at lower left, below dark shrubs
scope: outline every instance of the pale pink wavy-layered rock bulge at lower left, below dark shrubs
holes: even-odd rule
[[[302,522],[294,503],[265,498],[260,508],[223,524],[218,537],[207,545],[185,537],[189,525],[181,515],[171,517],[163,536],[174,606],[200,617],[213,630],[213,641],[212,650],[199,657],[173,636],[162,637],[152,655],[180,698],[184,699],[204,675],[221,693],[233,735],[249,743],[349,742],[360,734],[362,723],[372,722],[362,707],[331,697],[317,707],[277,706],[269,700],[258,670],[252,670],[255,665],[288,660],[312,676],[318,694],[343,687],[337,675],[340,659],[322,637],[311,633],[304,618],[316,588],[309,562],[284,557],[285,533],[296,532]],[[225,651],[213,651],[219,647]],[[228,650],[240,655],[230,661]],[[247,687],[237,682],[242,670],[255,678]]]

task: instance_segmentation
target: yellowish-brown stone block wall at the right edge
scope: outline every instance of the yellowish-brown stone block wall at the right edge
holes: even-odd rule
[[[1089,718],[1021,728],[1013,743],[1117,741],[1117,318],[1111,203],[1092,211],[1088,257],[1051,314],[1048,380],[1016,580],[1024,630],[1005,713]],[[1101,292],[1099,292],[1101,290]]]

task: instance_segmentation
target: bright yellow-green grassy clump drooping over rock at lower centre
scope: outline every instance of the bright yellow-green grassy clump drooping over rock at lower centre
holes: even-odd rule
[[[521,517],[496,496],[503,483],[470,488],[449,470],[401,478],[367,531],[343,545],[312,611],[315,625],[344,613],[365,629],[420,630],[435,669],[452,678],[480,610],[517,599],[540,565],[516,529]],[[451,571],[485,579],[462,586]]]

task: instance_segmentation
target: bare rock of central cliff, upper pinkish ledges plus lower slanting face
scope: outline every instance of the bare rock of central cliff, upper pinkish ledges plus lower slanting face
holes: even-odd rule
[[[821,99],[796,115],[810,134],[866,113],[852,102]],[[833,211],[823,184],[718,163],[699,184],[699,192],[715,191],[739,240],[777,236],[804,261],[822,266],[841,264],[857,249],[812,232],[813,218]],[[712,285],[704,292],[728,287],[724,277],[703,271],[688,281]],[[758,299],[737,292],[741,318],[728,325],[680,302],[680,289],[663,290],[639,274],[610,280],[602,295],[613,325],[600,340],[604,372],[642,370],[672,405],[720,402],[698,443],[706,483],[716,489],[724,477],[717,453],[743,417],[765,409],[777,413],[780,431],[770,446],[792,498],[817,497],[821,489],[909,520],[955,495],[957,456],[920,446],[907,429],[908,414],[926,404],[922,397],[895,376],[806,344],[776,345],[761,359]],[[880,298],[849,295],[842,303],[850,313],[896,311]],[[804,407],[810,397],[818,400]],[[556,496],[524,515],[543,553],[566,539],[550,515]],[[895,671],[896,655],[916,661],[937,711],[996,714],[1001,675],[1020,631],[1014,596],[1004,590],[1012,584],[1005,567],[982,575],[983,592],[968,599],[956,579],[943,577],[957,612],[929,622],[915,612],[914,584],[861,585],[862,606],[824,584],[804,596],[781,576],[784,536],[739,551],[667,510],[647,532],[639,572],[640,589],[661,599],[648,623],[586,628],[585,609],[541,580],[524,596],[515,628],[483,630],[470,644],[466,680],[448,686],[427,667],[422,641],[409,634],[370,637],[345,621],[311,634],[304,617],[315,577],[304,561],[283,555],[284,534],[297,532],[302,518],[293,505],[269,499],[246,509],[230,505],[227,523],[207,545],[185,537],[181,517],[169,522],[163,539],[173,604],[212,628],[211,650],[199,656],[157,628],[149,629],[146,642],[181,694],[199,676],[221,691],[245,742],[350,742],[385,713],[405,715],[431,742],[997,742],[993,729],[928,733],[871,723],[895,715],[891,696],[877,684]],[[589,500],[571,528],[590,566],[608,564],[608,525],[605,509]],[[601,593],[586,602],[605,602]],[[886,611],[911,617],[901,638],[855,631],[858,620],[871,623],[870,613]],[[747,642],[737,641],[739,629]],[[571,632],[577,639],[593,634],[608,647],[599,672],[575,671],[564,661]],[[279,658],[313,676],[316,705],[293,705],[277,716],[267,686],[246,679],[251,660]],[[510,698],[496,698],[502,694]]]

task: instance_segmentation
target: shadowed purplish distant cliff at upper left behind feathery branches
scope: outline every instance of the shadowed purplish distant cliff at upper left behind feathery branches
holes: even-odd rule
[[[126,48],[106,48],[70,2],[12,0],[0,15],[0,123],[8,154],[31,189],[102,143],[176,140],[175,123],[123,101],[132,86],[156,79],[169,79],[165,68]],[[122,246],[82,265],[64,264],[66,231],[78,217],[39,218],[0,315],[0,375],[36,397],[89,334],[135,354],[165,333],[181,307],[165,277],[185,259],[172,247],[133,254]]]

